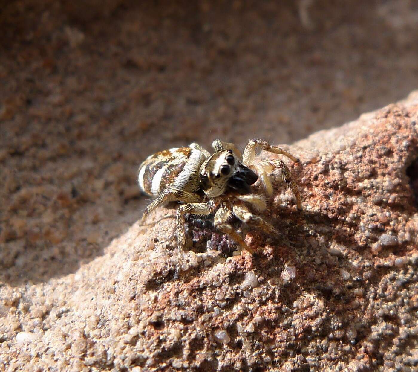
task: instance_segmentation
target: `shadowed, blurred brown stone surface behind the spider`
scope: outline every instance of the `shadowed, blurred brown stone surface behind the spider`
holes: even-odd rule
[[[418,87],[418,3],[0,1],[0,285],[140,218],[160,149],[291,143]]]

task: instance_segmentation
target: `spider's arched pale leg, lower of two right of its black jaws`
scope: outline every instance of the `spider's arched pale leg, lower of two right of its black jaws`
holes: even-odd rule
[[[273,193],[273,187],[267,174],[275,168],[280,168],[282,171],[283,180],[286,182],[287,187],[293,192],[293,195],[295,195],[298,209],[302,209],[301,193],[299,192],[298,185],[296,185],[295,180],[293,180],[289,167],[282,160],[263,160],[255,167],[260,173],[260,180],[265,187],[267,195],[271,195]]]

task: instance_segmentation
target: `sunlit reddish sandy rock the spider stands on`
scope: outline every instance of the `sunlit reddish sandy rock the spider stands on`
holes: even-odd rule
[[[74,273],[3,285],[0,369],[416,369],[417,130],[412,93],[290,146],[303,210],[277,181],[280,236],[235,225],[254,257],[193,218],[179,251],[161,208]]]

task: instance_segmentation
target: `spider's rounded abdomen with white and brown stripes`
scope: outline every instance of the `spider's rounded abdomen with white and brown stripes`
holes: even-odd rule
[[[154,197],[168,187],[196,192],[199,169],[206,154],[196,148],[179,147],[157,152],[140,165],[138,183],[143,192]]]

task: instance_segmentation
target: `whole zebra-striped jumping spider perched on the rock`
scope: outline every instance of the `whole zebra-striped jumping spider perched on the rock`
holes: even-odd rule
[[[180,247],[186,243],[184,214],[214,215],[214,225],[218,230],[231,236],[242,249],[251,254],[242,237],[234,231],[228,219],[234,215],[242,222],[252,224],[267,233],[277,234],[275,228],[263,218],[250,212],[248,205],[261,212],[266,202],[263,195],[252,193],[251,185],[260,178],[265,193],[271,195],[273,187],[268,173],[280,168],[283,180],[296,197],[301,208],[301,196],[291,172],[280,159],[263,160],[254,164],[255,149],[281,154],[298,162],[294,156],[277,146],[270,146],[261,139],[252,139],[245,146],[243,154],[234,144],[213,141],[214,154],[210,154],[198,144],[157,152],[149,156],[139,167],[138,182],[143,192],[155,197],[143,214],[141,223],[148,214],[168,201],[182,202],[176,211],[177,239]]]

